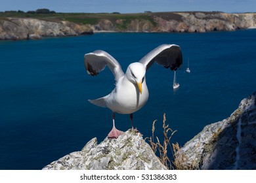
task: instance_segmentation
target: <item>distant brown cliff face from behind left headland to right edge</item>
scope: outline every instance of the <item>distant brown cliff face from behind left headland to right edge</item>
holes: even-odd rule
[[[149,16],[154,23],[145,19],[101,20],[91,25],[94,31],[134,31],[134,32],[206,32],[234,31],[256,27],[256,13],[226,14],[222,12],[159,12]]]

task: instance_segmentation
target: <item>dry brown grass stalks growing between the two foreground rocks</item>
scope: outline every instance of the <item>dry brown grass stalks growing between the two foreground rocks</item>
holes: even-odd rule
[[[181,149],[179,144],[176,142],[175,144],[171,144],[171,137],[173,137],[174,133],[177,131],[173,131],[169,124],[166,125],[165,114],[163,114],[163,141],[160,142],[158,137],[154,137],[154,133],[156,130],[155,127],[156,120],[152,124],[152,137],[146,137],[145,141],[148,140],[152,150],[158,156],[161,163],[167,167],[167,169],[177,169],[177,170],[192,170],[194,169],[194,163],[190,165],[188,163],[188,158],[185,154],[179,154],[179,150]],[[171,151],[171,158],[170,153]],[[173,160],[172,160],[173,159]]]

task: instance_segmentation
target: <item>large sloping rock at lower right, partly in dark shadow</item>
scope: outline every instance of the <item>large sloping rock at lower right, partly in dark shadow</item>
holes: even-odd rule
[[[256,169],[256,92],[184,144],[176,161],[194,169]]]

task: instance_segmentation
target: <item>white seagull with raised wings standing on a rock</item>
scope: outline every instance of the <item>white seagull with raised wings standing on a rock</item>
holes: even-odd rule
[[[94,105],[112,110],[113,127],[108,133],[109,138],[117,138],[123,133],[115,127],[115,113],[130,114],[133,129],[133,113],[142,108],[148,101],[145,75],[154,62],[176,71],[182,65],[180,46],[161,44],[146,54],[139,62],[131,63],[125,73],[118,61],[103,50],[85,54],[84,64],[89,75],[96,76],[108,66],[116,80],[116,87],[111,93],[98,99],[88,100]]]

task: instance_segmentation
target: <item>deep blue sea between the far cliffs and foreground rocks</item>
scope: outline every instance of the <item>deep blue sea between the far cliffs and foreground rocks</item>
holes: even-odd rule
[[[126,71],[160,44],[178,44],[183,54],[173,90],[173,71],[154,64],[146,73],[150,97],[134,114],[143,137],[152,122],[162,139],[162,120],[177,130],[182,146],[205,125],[228,118],[256,91],[256,30],[211,33],[95,33],[91,36],[0,42],[0,169],[42,169],[101,142],[112,128],[112,112],[87,100],[110,93],[108,68],[87,75],[83,56],[105,50]],[[189,59],[191,73],[186,73]],[[131,128],[129,115],[116,114],[116,127]]]

